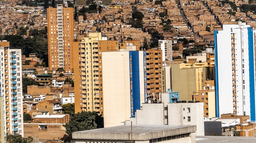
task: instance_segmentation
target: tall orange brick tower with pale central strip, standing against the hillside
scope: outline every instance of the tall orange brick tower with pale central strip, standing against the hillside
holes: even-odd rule
[[[73,69],[74,8],[47,8],[49,69]]]

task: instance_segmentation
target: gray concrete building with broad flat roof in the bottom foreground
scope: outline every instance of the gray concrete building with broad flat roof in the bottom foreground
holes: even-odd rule
[[[193,125],[121,125],[74,132],[72,138],[75,143],[195,143],[195,132]]]

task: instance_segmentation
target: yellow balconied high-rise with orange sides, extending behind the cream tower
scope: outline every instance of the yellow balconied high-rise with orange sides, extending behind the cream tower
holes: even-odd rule
[[[105,39],[95,32],[73,42],[75,113],[84,110],[103,114],[102,52],[139,50],[139,41],[128,44]]]

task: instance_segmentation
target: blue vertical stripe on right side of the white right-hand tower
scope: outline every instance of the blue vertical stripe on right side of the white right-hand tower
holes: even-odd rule
[[[248,30],[248,52],[249,52],[249,86],[250,86],[250,118],[255,121],[255,68],[254,68],[254,45],[253,45],[253,29],[247,27]]]

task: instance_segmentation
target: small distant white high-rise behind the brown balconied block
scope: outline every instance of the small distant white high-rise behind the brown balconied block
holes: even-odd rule
[[[172,60],[172,41],[159,40],[159,50],[162,50],[162,60]]]

